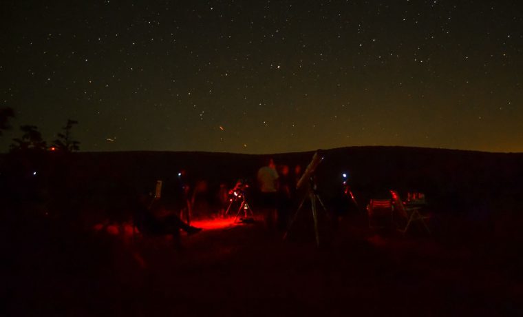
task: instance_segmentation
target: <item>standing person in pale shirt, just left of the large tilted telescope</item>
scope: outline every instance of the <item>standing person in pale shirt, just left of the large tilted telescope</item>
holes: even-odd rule
[[[258,188],[261,193],[261,205],[266,209],[265,221],[267,227],[274,227],[277,218],[278,172],[274,160],[268,159],[264,167],[260,167],[257,174]]]

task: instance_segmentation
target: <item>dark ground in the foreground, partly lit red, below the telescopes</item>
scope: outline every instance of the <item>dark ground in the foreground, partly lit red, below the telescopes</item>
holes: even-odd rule
[[[354,214],[323,227],[317,248],[306,219],[285,242],[258,221],[182,236],[183,249],[25,224],[3,237],[2,314],[522,316],[521,241],[439,222],[401,236]]]

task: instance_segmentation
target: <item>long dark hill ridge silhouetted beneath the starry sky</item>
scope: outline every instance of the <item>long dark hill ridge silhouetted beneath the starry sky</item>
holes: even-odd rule
[[[180,170],[191,180],[213,186],[238,178],[254,181],[267,156],[277,164],[306,167],[314,152],[249,155],[211,152],[84,152],[74,154],[79,178],[119,180],[142,191],[157,179],[169,186]],[[365,203],[373,194],[395,189],[424,192],[439,212],[509,207],[523,189],[523,154],[444,150],[418,147],[343,147],[323,150],[317,169],[323,195],[330,198],[348,172],[352,189]]]

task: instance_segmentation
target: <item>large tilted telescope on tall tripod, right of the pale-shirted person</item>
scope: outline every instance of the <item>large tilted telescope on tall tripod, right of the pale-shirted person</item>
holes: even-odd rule
[[[305,203],[306,199],[309,198],[310,205],[312,207],[312,218],[314,219],[314,234],[316,236],[316,245],[319,246],[318,213],[316,210],[316,202],[318,201],[320,203],[321,207],[323,208],[323,212],[327,212],[325,205],[323,205],[323,202],[321,201],[321,198],[319,197],[316,181],[314,180],[314,172],[316,171],[316,168],[318,167],[318,165],[323,161],[323,156],[321,156],[320,152],[321,152],[321,150],[317,150],[314,153],[314,156],[312,156],[312,161],[310,161],[305,172],[303,172],[303,175],[301,176],[301,178],[299,178],[299,181],[296,184],[296,188],[298,190],[300,188],[307,188],[308,193],[306,194],[305,197],[303,197],[303,200],[299,204],[299,207],[296,210],[294,217],[292,217],[292,220],[290,221],[287,232],[284,234],[284,240],[286,240],[286,238],[290,232],[290,228],[292,227],[292,224],[295,223],[296,218],[298,217],[299,211],[301,210],[301,207],[303,207],[303,203]]]

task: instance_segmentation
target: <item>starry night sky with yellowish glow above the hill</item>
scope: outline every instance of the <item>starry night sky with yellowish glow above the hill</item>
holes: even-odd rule
[[[520,1],[0,4],[0,107],[83,151],[523,152]]]

